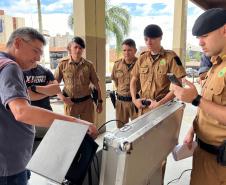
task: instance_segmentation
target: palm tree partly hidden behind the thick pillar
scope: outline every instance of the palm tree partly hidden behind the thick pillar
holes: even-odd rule
[[[107,37],[110,37],[111,34],[115,36],[117,53],[121,50],[121,43],[124,37],[129,33],[130,19],[131,17],[126,9],[112,6],[108,1],[106,2],[106,35]],[[74,20],[72,14],[68,18],[68,25],[73,30]]]

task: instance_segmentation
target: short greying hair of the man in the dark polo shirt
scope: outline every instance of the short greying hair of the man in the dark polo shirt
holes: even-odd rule
[[[41,41],[44,45],[46,45],[45,37],[41,33],[39,33],[36,29],[31,27],[22,27],[22,28],[16,29],[10,35],[9,40],[6,44],[6,47],[12,46],[13,41],[18,37],[26,41],[33,41],[37,39]]]

